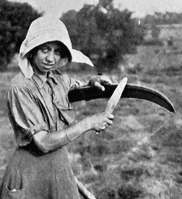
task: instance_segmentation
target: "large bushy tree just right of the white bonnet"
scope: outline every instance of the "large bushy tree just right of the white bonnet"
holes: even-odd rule
[[[84,5],[71,19],[63,15],[62,20],[69,29],[74,47],[91,59],[98,57],[93,61],[98,70],[112,70],[125,53],[131,53],[143,40],[144,28],[131,16],[128,10],[114,8],[112,0],[100,0],[96,6]]]

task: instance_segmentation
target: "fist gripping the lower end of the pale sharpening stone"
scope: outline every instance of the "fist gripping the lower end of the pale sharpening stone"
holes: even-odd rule
[[[90,118],[91,129],[97,132],[105,130],[113,123],[114,115],[111,113],[98,113]]]

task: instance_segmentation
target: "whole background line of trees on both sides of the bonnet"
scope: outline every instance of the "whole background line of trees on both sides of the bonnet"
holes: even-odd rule
[[[0,1],[0,71],[19,51],[30,23],[43,15],[27,3]],[[180,23],[182,14],[158,13],[144,18],[132,17],[133,12],[113,6],[113,0],[100,0],[97,5],[85,4],[79,11],[70,10],[60,17],[66,24],[73,47],[90,57],[98,72],[118,67],[125,54],[146,44],[147,30],[152,29],[156,44],[161,24]]]

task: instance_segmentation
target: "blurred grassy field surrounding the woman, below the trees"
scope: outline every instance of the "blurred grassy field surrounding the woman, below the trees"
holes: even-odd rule
[[[145,65],[138,59],[139,68],[137,65],[136,69],[107,75],[113,81],[127,76],[129,83],[162,92],[174,104],[176,114],[148,101],[123,99],[114,111],[112,127],[99,135],[88,132],[68,146],[75,175],[98,199],[181,198],[182,62],[173,57],[173,64],[168,62],[159,68],[157,60],[165,57],[156,58],[155,53],[146,56]],[[151,65],[150,60],[155,64]],[[16,147],[5,102],[8,83],[15,74],[0,74],[0,178]],[[95,100],[73,106],[81,119],[104,110],[106,102]]]

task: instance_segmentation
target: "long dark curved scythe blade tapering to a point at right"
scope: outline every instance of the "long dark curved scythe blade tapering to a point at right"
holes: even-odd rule
[[[100,91],[98,88],[85,86],[77,89],[70,90],[68,93],[68,98],[70,102],[76,101],[89,101],[92,99],[99,98],[109,98],[114,92],[117,84],[105,85],[105,91]],[[161,107],[165,108],[169,112],[175,113],[175,109],[169,99],[164,96],[162,93],[144,87],[133,84],[127,84],[121,98],[137,98],[147,101],[154,102]]]

